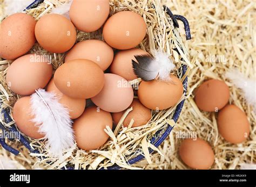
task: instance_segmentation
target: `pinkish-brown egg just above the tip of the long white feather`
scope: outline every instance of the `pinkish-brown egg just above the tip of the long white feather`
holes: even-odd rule
[[[19,57],[8,68],[6,83],[18,95],[31,95],[44,88],[52,76],[52,65],[47,56],[27,54]]]

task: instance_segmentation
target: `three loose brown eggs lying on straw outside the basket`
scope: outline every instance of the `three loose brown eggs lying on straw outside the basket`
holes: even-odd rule
[[[246,114],[238,106],[227,104],[230,91],[224,81],[208,80],[201,84],[195,96],[199,109],[218,112],[218,131],[230,143],[246,141],[250,133],[250,123]],[[208,169],[214,163],[211,146],[202,139],[185,139],[179,148],[181,159],[191,168]]]

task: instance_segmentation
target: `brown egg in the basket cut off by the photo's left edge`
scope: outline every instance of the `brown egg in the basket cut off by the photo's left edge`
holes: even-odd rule
[[[15,13],[0,24],[0,57],[14,60],[35,44],[36,20],[26,13]]]

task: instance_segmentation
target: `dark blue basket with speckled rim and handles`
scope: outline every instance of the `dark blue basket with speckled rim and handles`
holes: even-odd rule
[[[43,0],[36,0],[31,5],[29,5],[27,9],[29,10],[29,9],[36,8],[41,3],[43,3]],[[155,9],[156,7],[154,7],[154,5],[153,5],[152,8]],[[172,25],[172,32],[176,33],[176,34],[179,34],[179,32],[177,30],[177,28],[179,27],[179,24],[178,24],[177,20],[181,20],[181,21],[183,21],[184,26],[185,26],[186,39],[187,40],[191,39],[190,29],[189,29],[187,20],[182,16],[173,15],[172,12],[170,11],[170,9],[168,9],[166,6],[163,6],[163,10],[165,10],[166,14],[170,16],[169,21],[170,21],[170,24]],[[179,37],[179,35],[178,35],[178,37]],[[180,54],[180,52],[186,51],[184,45],[179,45],[179,47],[180,47],[179,49],[170,48],[170,51],[174,50],[176,52],[176,54],[179,55],[179,58],[180,58],[181,61],[184,60],[184,54],[186,54],[185,57],[187,57],[187,59],[188,59],[187,53],[184,53],[183,55]],[[189,68],[187,66],[187,64],[183,63],[183,64],[181,64],[180,67],[178,67],[178,73],[177,73],[179,75],[179,77],[181,77],[183,79],[184,95],[185,95],[186,90],[187,90],[187,77],[186,77],[187,68]],[[174,123],[176,123],[178,118],[179,118],[180,112],[183,108],[184,102],[185,102],[185,97],[184,97],[184,99],[180,100],[180,102],[176,106],[176,108],[166,118],[172,119],[174,121]],[[2,114],[3,114],[3,117],[4,117],[4,122],[6,124],[12,122],[10,112],[11,111],[10,111],[9,107],[2,107]],[[15,125],[12,125],[11,127],[5,127],[3,124],[0,124],[0,127],[2,128],[2,130],[5,130],[5,131],[19,133],[19,131],[17,130]],[[149,139],[151,144],[155,147],[158,147],[167,138],[167,136],[170,134],[170,132],[172,131],[172,128],[173,128],[173,126],[171,126],[170,124],[166,124],[165,128],[161,128],[156,133],[154,133],[154,136],[152,136]],[[36,147],[31,146],[30,139],[28,139],[26,136],[23,136],[22,134],[21,134],[20,137],[21,137],[21,139],[19,139],[19,141],[26,148],[28,148],[31,153],[33,153],[33,154],[41,153],[40,150],[38,150]],[[4,149],[8,150],[12,154],[15,154],[15,155],[19,154],[18,150],[14,149],[14,148],[10,147],[8,144],[6,144],[4,138],[1,139],[0,141],[1,141],[1,145]],[[149,148],[149,153],[152,153],[153,151],[154,151],[153,149]],[[43,157],[41,156],[41,159],[42,158]],[[140,153],[134,154],[134,156],[130,156],[130,159],[127,161],[127,164],[133,164],[133,163],[136,163],[136,162],[138,162],[142,159],[144,159],[143,154],[140,154]],[[74,168],[73,164],[68,164],[66,167],[63,167],[63,169],[73,169],[73,168]],[[121,167],[118,166],[118,164],[114,163],[114,164],[112,164],[112,166],[109,166],[109,167],[106,167],[106,168],[107,169],[120,169]]]

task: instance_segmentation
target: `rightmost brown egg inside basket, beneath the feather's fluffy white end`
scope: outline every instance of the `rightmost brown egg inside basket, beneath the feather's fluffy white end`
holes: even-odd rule
[[[183,95],[183,84],[176,76],[170,77],[171,82],[142,81],[138,89],[140,102],[152,110],[164,110],[176,105]]]

